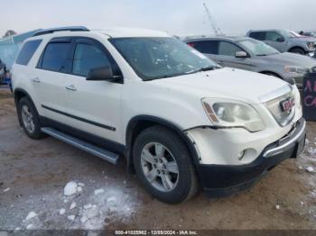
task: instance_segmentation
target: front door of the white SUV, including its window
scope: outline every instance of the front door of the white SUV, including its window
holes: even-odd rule
[[[121,76],[105,46],[88,38],[73,39],[70,73],[66,76],[66,124],[107,140],[121,141],[121,82],[88,81],[93,68],[110,66]]]

